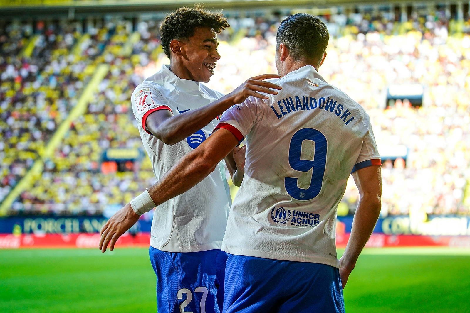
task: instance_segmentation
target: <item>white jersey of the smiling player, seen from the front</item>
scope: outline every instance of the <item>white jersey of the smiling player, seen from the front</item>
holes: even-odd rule
[[[146,129],[147,117],[161,109],[170,110],[174,115],[182,114],[204,107],[222,96],[222,93],[204,84],[180,79],[168,65],[135,88],[131,99],[132,110],[157,179],[209,137],[219,121],[214,119],[202,130],[175,145],[165,145]],[[202,182],[157,206],[150,245],[167,252],[220,249],[230,202],[230,189],[221,162],[219,169]]]

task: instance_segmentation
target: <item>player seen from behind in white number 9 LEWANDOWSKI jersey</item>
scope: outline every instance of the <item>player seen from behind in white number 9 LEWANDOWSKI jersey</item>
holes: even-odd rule
[[[282,86],[228,109],[211,137],[149,193],[156,204],[209,175],[246,137],[243,183],[227,223],[224,313],[344,312],[342,287],[381,207],[381,161],[369,117],[318,73],[329,34],[318,17],[287,17],[277,32]],[[352,173],[360,202],[337,259],[337,205]]]

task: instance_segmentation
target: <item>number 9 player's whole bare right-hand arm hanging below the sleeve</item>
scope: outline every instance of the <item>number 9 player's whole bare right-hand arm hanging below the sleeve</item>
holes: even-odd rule
[[[380,166],[361,168],[352,174],[359,189],[359,206],[352,221],[351,236],[346,245],[345,253],[339,260],[339,274],[343,289],[349,274],[356,265],[359,254],[367,243],[376,226],[382,206],[382,172]]]

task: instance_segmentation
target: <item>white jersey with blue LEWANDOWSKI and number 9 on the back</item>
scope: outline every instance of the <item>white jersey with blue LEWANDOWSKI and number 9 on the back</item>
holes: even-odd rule
[[[348,177],[381,164],[369,117],[310,65],[272,82],[279,94],[248,98],[216,127],[247,145],[222,250],[339,267],[336,210]]]

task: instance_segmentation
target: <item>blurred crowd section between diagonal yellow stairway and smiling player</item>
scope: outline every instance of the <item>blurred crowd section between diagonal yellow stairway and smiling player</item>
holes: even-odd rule
[[[95,213],[106,205],[129,202],[155,182],[148,158],[135,165],[136,171],[134,165],[118,172],[117,166],[101,163],[108,148],[137,149],[142,145],[130,104],[133,89],[142,77],[135,75],[133,69],[136,64],[147,65],[157,46],[155,38],[149,36],[148,25],[141,24],[141,40],[133,45],[132,57],[125,57],[122,49],[132,33],[119,23],[107,27],[116,28],[104,49],[109,73],[98,85],[87,113],[73,122],[54,157],[46,161],[42,176],[22,194],[18,208],[45,204],[39,207],[46,211],[57,207]]]

